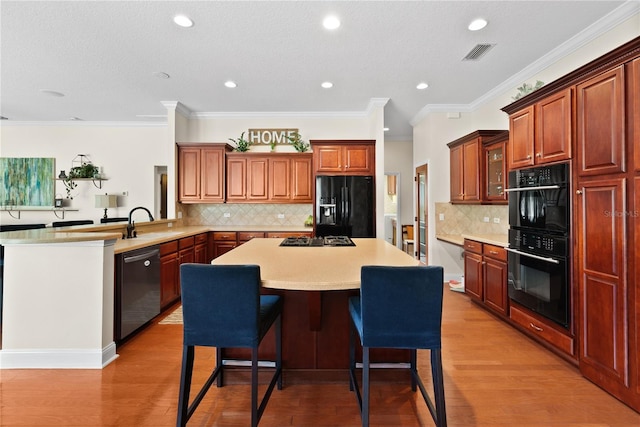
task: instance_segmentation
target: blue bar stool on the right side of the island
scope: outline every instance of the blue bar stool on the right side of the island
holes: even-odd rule
[[[369,425],[369,349],[411,350],[411,390],[416,384],[436,426],[446,427],[442,375],[441,325],[443,270],[436,266],[363,266],[360,296],[349,298],[349,389],[354,390],[362,425]],[[356,334],[362,345],[362,393],[356,379]],[[416,365],[417,349],[431,351],[435,406],[427,395]]]

